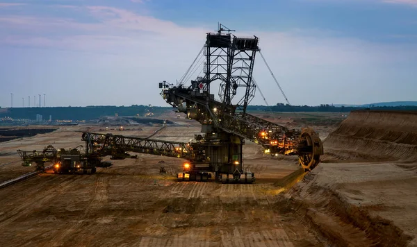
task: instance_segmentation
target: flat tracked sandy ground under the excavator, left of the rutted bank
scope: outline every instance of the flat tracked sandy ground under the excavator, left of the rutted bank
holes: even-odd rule
[[[188,141],[195,131],[168,127],[155,138]],[[34,139],[41,145],[68,136],[60,144],[73,146],[79,135]],[[142,154],[89,176],[44,173],[1,189],[0,239],[7,246],[320,246],[299,219],[276,208],[283,190],[273,182],[297,170],[295,160],[263,157],[256,144],[245,151],[259,181],[253,185],[176,182],[181,160]],[[161,161],[167,176],[158,173]]]

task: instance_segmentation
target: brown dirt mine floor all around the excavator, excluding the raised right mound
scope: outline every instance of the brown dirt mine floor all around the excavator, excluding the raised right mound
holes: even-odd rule
[[[338,114],[322,117],[332,121],[286,114],[270,121],[307,124],[324,139],[338,128]],[[172,121],[152,138],[188,142],[199,133],[193,121]],[[147,137],[159,127],[116,133]],[[74,147],[83,144],[81,131],[98,129],[71,126],[1,143],[0,181],[33,171],[17,149]],[[252,185],[176,182],[182,160],[142,154],[93,175],[43,173],[0,189],[1,246],[417,246],[417,163],[341,159],[347,155],[336,149],[305,174],[297,157],[263,155],[246,142]],[[166,176],[158,173],[162,161]]]

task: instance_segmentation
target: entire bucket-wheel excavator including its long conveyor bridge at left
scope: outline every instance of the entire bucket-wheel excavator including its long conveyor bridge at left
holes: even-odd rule
[[[69,164],[74,162],[76,168],[85,170],[88,166],[103,165],[101,157],[106,155],[124,159],[130,156],[127,152],[147,153],[186,160],[183,171],[177,173],[178,180],[202,181],[214,175],[219,182],[250,183],[254,182],[255,174],[245,169],[243,163],[243,145],[249,139],[260,144],[266,154],[298,155],[304,171],[314,169],[323,154],[322,142],[314,130],[290,130],[247,113],[247,105],[256,91],[252,73],[256,53],[260,52],[259,38],[236,37],[231,31],[220,24],[217,33],[206,34],[199,53],[204,51],[204,76],[191,80],[189,86],[183,82],[186,75],[177,85],[159,83],[163,99],[188,119],[201,123],[202,135],[197,134],[193,142],[185,143],[83,133],[85,154],[76,154],[79,157],[71,158]],[[211,93],[216,86],[220,99]],[[62,165],[66,157],[61,154],[58,158],[54,148],[46,148],[42,157],[21,156],[24,162],[35,162],[41,169],[45,160],[57,162],[60,158]]]

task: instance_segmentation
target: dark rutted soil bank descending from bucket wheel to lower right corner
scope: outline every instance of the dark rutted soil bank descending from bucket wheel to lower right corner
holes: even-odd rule
[[[372,214],[375,206],[354,205],[338,186],[320,185],[317,173],[307,174],[288,193],[290,208],[332,246],[407,246],[413,239],[393,221]],[[318,178],[320,180],[320,178]],[[382,209],[379,209],[382,210]]]

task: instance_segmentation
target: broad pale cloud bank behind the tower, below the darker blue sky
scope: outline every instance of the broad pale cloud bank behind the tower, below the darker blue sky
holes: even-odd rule
[[[88,82],[100,81],[105,85],[100,90],[107,88],[109,95],[124,95],[108,97],[111,102],[103,101],[103,104],[129,105],[149,101],[163,105],[161,99],[154,97],[158,92],[152,82],[180,78],[204,44],[205,33],[213,30],[211,26],[181,26],[110,6],[79,6],[76,10],[63,8],[62,11],[65,11],[63,16],[71,18],[17,14],[0,17],[0,49],[3,48],[0,72],[3,69],[10,81],[30,80],[47,88],[42,83],[51,78],[54,83],[74,83],[74,88],[88,87],[94,92],[97,88]],[[361,103],[357,100],[359,97],[362,101],[376,102],[379,101],[377,95],[384,93],[378,91],[378,83],[402,81],[400,76],[410,72],[404,69],[401,73],[395,68],[416,65],[417,47],[414,44],[379,44],[337,37],[329,31],[303,29],[247,31],[236,32],[236,35],[260,37],[263,55],[288,99],[295,104]],[[281,101],[269,71],[259,57],[256,60],[254,76],[266,99],[269,103]],[[13,62],[28,72],[14,75],[13,71],[21,69],[10,67]],[[191,78],[200,71],[202,67]],[[19,78],[25,75],[27,78]],[[108,86],[115,82],[117,87]],[[400,83],[396,86],[398,88],[391,91],[400,90]],[[138,90],[126,88],[140,88],[140,101]],[[8,91],[12,92],[11,89]],[[375,92],[375,98],[371,99],[373,95],[368,92]],[[77,96],[90,100],[83,101],[84,105],[101,103],[101,99],[91,99],[88,89],[77,92]],[[56,99],[58,101],[64,99]],[[263,101],[257,97],[253,103]],[[68,99],[68,102],[57,104],[73,105],[74,101]]]

